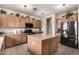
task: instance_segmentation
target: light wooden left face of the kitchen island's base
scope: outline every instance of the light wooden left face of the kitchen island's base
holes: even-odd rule
[[[33,55],[41,55],[41,41],[39,41],[38,39],[32,39],[31,37],[28,37],[28,41],[27,41],[27,49],[28,51],[33,54]]]

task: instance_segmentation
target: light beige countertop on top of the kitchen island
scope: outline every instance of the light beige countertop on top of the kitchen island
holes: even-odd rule
[[[53,38],[57,35],[50,35],[50,34],[34,34],[34,35],[28,35],[28,37],[33,37],[35,39],[45,40],[48,38]]]

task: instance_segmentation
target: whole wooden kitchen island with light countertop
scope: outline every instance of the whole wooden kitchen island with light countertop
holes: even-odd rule
[[[54,54],[59,45],[59,36],[50,34],[28,35],[27,48],[34,55]]]

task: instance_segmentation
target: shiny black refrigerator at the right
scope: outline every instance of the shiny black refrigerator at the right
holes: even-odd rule
[[[60,43],[71,47],[78,48],[78,21],[63,22],[61,26]]]

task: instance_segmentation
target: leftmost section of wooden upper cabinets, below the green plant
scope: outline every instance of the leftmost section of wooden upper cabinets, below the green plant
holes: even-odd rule
[[[0,15],[0,27],[14,27],[14,17],[10,15]]]

